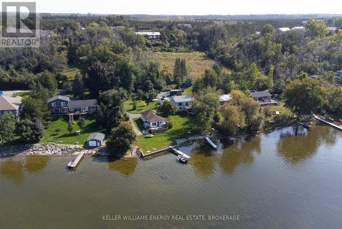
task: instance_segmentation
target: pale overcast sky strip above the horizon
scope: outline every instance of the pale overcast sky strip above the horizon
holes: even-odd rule
[[[51,13],[342,14],[341,0],[37,0],[36,2],[39,12]]]

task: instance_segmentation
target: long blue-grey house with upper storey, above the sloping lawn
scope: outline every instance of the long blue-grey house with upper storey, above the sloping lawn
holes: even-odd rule
[[[48,104],[53,115],[85,114],[98,109],[97,99],[70,99],[62,95],[48,99]]]

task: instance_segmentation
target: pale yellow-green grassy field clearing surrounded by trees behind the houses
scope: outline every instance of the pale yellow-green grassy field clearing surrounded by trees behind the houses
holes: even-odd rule
[[[185,58],[192,78],[201,77],[205,69],[210,69],[215,64],[215,61],[211,60],[205,53],[197,51],[184,53],[155,52],[151,55],[155,60],[159,60],[161,67],[166,66],[170,72],[172,72],[177,57]]]

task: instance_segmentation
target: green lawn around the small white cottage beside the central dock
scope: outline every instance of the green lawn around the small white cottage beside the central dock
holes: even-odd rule
[[[173,127],[168,132],[155,134],[153,138],[137,136],[137,145],[139,145],[144,154],[146,154],[147,151],[153,152],[156,149],[163,149],[169,145],[175,145],[176,139],[185,138],[186,136],[192,136],[197,133],[195,130],[193,130],[192,124],[188,117],[172,115],[168,118],[168,120],[169,119],[173,122]],[[139,123],[137,123],[137,126],[140,127]]]

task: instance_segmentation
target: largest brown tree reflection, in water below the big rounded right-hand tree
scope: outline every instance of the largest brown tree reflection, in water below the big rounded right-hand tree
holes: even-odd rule
[[[337,143],[339,132],[328,126],[313,125],[306,130],[298,125],[280,133],[277,153],[285,162],[298,164],[312,158],[320,145],[333,146]]]

